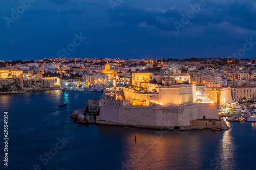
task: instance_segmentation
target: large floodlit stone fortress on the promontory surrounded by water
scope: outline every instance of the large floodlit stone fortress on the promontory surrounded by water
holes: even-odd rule
[[[157,129],[219,119],[218,104],[198,95],[187,75],[158,78],[153,73],[133,73],[129,87],[113,86],[105,89],[99,101],[99,124]]]

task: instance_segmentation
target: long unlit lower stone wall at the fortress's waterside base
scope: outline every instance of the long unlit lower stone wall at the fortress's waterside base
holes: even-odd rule
[[[136,126],[188,126],[190,120],[218,119],[216,104],[189,104],[178,107],[100,106],[99,120]]]

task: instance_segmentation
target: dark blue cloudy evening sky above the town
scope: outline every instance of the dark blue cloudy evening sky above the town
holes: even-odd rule
[[[0,60],[53,58],[70,44],[67,57],[226,58],[245,38],[256,42],[255,1],[205,0],[195,16],[190,6],[200,1],[113,0],[113,8],[109,0],[33,1],[25,11],[19,1],[0,1]],[[22,14],[13,19],[17,8]],[[177,31],[174,23],[188,13]],[[75,34],[87,39],[73,51]],[[255,52],[256,45],[242,58]]]

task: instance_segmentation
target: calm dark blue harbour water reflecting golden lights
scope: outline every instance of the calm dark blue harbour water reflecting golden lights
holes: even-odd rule
[[[101,95],[59,90],[0,95],[0,169],[256,169],[256,123],[167,133],[73,123],[71,111]],[[61,102],[68,106],[57,107]]]

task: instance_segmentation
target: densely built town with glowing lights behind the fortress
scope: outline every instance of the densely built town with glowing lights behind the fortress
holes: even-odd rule
[[[119,58],[53,58],[25,61],[0,61],[0,88],[4,93],[19,89],[7,86],[18,82],[19,90],[84,88],[104,89],[130,84],[132,72],[153,72],[154,80],[171,75],[186,76],[201,88],[228,87],[232,101],[256,98],[256,59],[119,59]],[[29,83],[32,82],[32,83]],[[37,84],[33,83],[37,82]],[[39,82],[39,83],[38,83]],[[33,86],[34,85],[34,86]],[[226,101],[230,102],[230,101]]]

